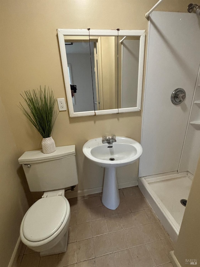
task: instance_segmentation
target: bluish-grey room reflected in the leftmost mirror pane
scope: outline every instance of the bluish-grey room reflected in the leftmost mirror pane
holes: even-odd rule
[[[68,59],[70,84],[77,86],[77,92],[73,97],[74,100],[72,99],[74,112],[94,110],[94,103],[97,102],[94,45],[93,43],[89,44],[89,40],[78,40],[77,42],[73,41],[70,45],[68,44],[69,42],[65,45],[65,49]]]

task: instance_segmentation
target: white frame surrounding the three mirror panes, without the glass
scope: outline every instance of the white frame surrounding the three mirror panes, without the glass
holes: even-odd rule
[[[64,82],[65,82],[70,117],[103,115],[103,114],[133,112],[133,111],[141,110],[145,30],[90,30],[88,31],[88,29],[80,29],[80,30],[79,29],[57,29],[57,32],[58,32],[58,39],[59,39],[59,45],[60,45],[61,60],[62,60],[62,65],[63,65],[63,75],[64,75]],[[134,107],[119,108],[119,102],[118,102],[118,108],[114,108],[114,109],[74,112],[73,99],[72,99],[72,94],[71,94],[71,86],[70,86],[69,75],[68,75],[68,62],[67,62],[67,55],[66,55],[66,49],[65,49],[66,36],[72,36],[72,37],[82,36],[82,37],[88,37],[90,39],[94,39],[95,36],[98,36],[98,37],[99,36],[118,36],[118,40],[119,40],[118,43],[121,41],[120,44],[122,45],[122,50],[123,50],[123,40],[125,39],[125,37],[131,37],[131,36],[139,37],[137,105]],[[121,75],[122,75],[122,72],[121,72]],[[131,72],[130,72],[130,75],[131,75]],[[121,80],[122,80],[122,77],[121,77]]]

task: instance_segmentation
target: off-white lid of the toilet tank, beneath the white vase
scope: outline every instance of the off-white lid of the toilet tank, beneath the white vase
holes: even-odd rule
[[[49,154],[42,153],[42,149],[26,151],[23,155],[18,159],[20,164],[24,163],[37,163],[44,162],[50,160],[61,159],[65,157],[71,157],[75,155],[75,145],[71,146],[58,146],[56,147],[56,151]]]

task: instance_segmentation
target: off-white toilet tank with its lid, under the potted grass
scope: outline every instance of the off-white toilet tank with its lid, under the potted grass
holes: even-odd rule
[[[18,159],[31,192],[51,191],[78,184],[75,145],[58,146],[50,154],[27,151]]]

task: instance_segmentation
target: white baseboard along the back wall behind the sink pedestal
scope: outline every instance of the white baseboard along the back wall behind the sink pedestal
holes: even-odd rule
[[[138,180],[137,181],[131,181],[131,182],[123,182],[118,184],[118,188],[126,188],[126,187],[132,187],[132,186],[137,186],[138,185]],[[79,190],[79,191],[68,191],[66,192],[65,196],[66,198],[76,198],[76,197],[82,197],[86,195],[91,195],[95,193],[101,193],[103,192],[103,187],[95,187],[95,188],[90,188],[90,189],[85,189],[85,190]]]

